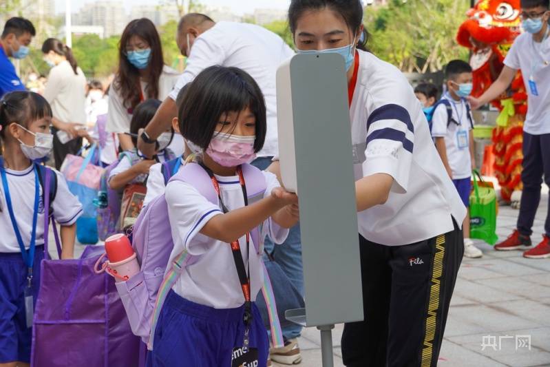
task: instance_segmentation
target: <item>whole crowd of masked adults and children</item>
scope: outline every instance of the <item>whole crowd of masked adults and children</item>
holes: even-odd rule
[[[304,295],[298,198],[279,177],[275,74],[286,59],[311,52],[340,54],[348,81],[364,321],[344,326],[343,362],[436,366],[463,256],[483,255],[467,211],[472,109],[504,92],[516,70],[529,76],[524,191],[518,229],[495,248],[550,257],[550,218],[542,242],[531,248],[530,239],[543,175],[550,184],[550,9],[548,0],[521,3],[527,32],[480,98],[469,96],[472,67],[461,60],[445,67],[441,98],[436,85],[413,90],[366,48],[359,0],[291,0],[295,50],[258,25],[187,14],[174,40],[187,56],[182,74],[165,65],[154,23],[135,19],[120,37],[108,86],[87,81],[72,50],[47,39],[41,52],[51,69],[43,90],[34,83],[40,94],[27,90],[8,59],[28,55],[34,26],[9,19],[0,37],[0,366],[30,362],[45,216],[61,225],[61,259],[74,257],[85,208],[59,170],[86,145],[100,148],[94,164],[105,168],[110,191],[139,185],[143,207],[164,198],[171,262],[182,253],[197,259],[171,283],[147,366],[229,366],[243,347],[251,366],[302,360],[302,327],[285,326],[284,346],[270,346],[255,300],[263,248]],[[204,174],[217,203],[193,183]],[[50,176],[55,192],[46,200]],[[254,202],[245,185],[251,177],[262,187]],[[131,229],[123,219],[116,231]],[[265,239],[251,236],[257,228],[268,229],[260,231]]]

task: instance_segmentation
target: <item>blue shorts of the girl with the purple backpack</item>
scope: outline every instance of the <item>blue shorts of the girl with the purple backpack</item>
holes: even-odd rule
[[[269,342],[262,316],[252,305],[250,346],[258,349],[258,366],[266,366]],[[170,291],[155,330],[147,366],[231,366],[231,352],[242,347],[244,306],[219,309],[185,300]]]

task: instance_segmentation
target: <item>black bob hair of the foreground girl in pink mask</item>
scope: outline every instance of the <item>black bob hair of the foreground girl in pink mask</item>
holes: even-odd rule
[[[220,122],[228,112],[248,107],[256,118],[254,151],[266,140],[266,103],[252,76],[237,67],[211,66],[190,83],[178,107],[180,132],[184,138],[206,150]]]

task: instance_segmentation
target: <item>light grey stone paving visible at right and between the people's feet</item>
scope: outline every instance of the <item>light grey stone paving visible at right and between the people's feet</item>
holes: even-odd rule
[[[533,228],[536,243],[547,213],[548,191],[543,191]],[[500,239],[516,227],[517,216],[518,211],[511,207],[500,208]],[[483,258],[465,258],[458,273],[438,366],[550,366],[550,259],[528,260],[520,251],[494,251],[487,244],[479,247]],[[337,325],[333,334],[335,366],[343,366],[339,348],[342,329]],[[516,350],[516,336],[521,335],[531,336],[531,350]],[[485,344],[494,348],[483,350],[484,336]],[[305,329],[299,345],[304,357],[299,366],[321,367],[319,331]]]

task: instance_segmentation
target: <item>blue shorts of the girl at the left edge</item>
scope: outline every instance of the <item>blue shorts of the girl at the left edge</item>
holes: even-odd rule
[[[44,247],[36,246],[32,266],[34,304],[40,287],[40,263]],[[0,253],[0,363],[30,362],[32,328],[25,318],[27,266],[21,253]]]

